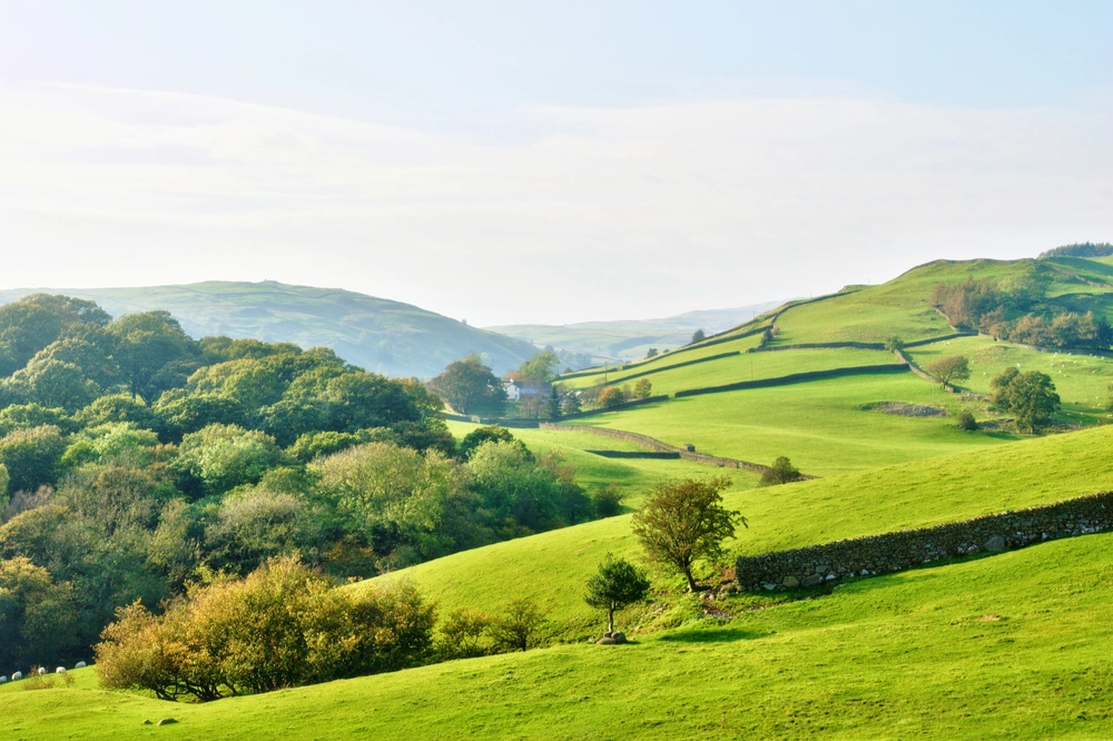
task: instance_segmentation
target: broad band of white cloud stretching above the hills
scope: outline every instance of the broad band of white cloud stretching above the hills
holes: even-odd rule
[[[480,141],[173,92],[2,92],[9,286],[270,278],[572,322],[1113,234],[1105,109],[682,99],[523,109]]]

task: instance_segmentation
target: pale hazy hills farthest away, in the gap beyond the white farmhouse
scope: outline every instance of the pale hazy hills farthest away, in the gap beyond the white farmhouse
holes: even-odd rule
[[[587,367],[604,360],[634,360],[646,356],[650,347],[672,349],[691,342],[692,333],[702,329],[711,335],[754,318],[784,300],[739,306],[737,308],[688,312],[660,319],[624,319],[617,322],[580,322],[578,324],[515,324],[486,327],[538,347],[551,345],[569,353],[591,355],[591,359],[574,365]]]

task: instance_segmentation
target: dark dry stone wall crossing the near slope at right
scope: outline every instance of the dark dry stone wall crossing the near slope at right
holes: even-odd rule
[[[1113,530],[1113,492],[934,527],[740,556],[735,576],[739,589],[749,592],[818,586],[1107,530]]]

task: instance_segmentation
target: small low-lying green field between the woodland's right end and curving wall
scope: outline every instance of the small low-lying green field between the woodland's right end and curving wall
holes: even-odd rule
[[[449,428],[457,438],[477,427],[464,422],[450,422]],[[654,460],[654,458],[604,458],[584,451],[644,451],[646,448],[620,439],[583,432],[555,432],[548,429],[510,431],[535,454],[546,454],[552,448],[560,448],[565,461],[575,467],[575,481],[584,488],[618,484],[626,495],[623,505],[638,506],[642,495],[652,488],[661,478],[683,478],[717,472],[717,468],[690,463],[688,461]],[[749,471],[729,470],[737,488],[751,488],[757,485],[759,474]]]

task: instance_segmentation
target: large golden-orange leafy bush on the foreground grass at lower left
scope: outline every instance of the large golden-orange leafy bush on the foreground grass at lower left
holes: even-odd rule
[[[97,671],[106,689],[164,700],[268,692],[416,665],[434,620],[408,582],[354,594],[275,559],[247,579],[193,587],[161,616],[138,602],[120,609],[96,646]]]

